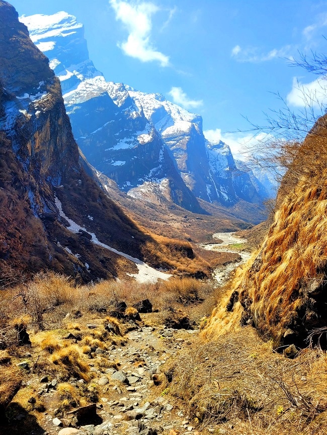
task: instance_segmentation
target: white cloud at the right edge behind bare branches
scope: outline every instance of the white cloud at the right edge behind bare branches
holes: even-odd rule
[[[327,78],[318,77],[310,83],[301,83],[294,77],[287,103],[294,107],[321,108],[327,104]]]

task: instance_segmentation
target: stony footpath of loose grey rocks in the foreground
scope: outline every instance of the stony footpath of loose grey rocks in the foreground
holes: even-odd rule
[[[142,320],[146,324],[146,317]],[[198,432],[192,426],[189,417],[166,398],[167,391],[160,389],[162,365],[179,354],[182,347],[190,346],[197,330],[176,330],[171,328],[141,327],[126,334],[124,346],[111,346],[107,351],[98,348],[97,356],[89,363],[94,374],[92,382],[97,384],[101,394],[97,404],[86,406],[85,422],[80,427],[64,427],[65,419],[53,413],[45,413],[42,427],[47,434],[70,435],[120,435],[136,433],[155,435],[181,433],[183,435]],[[109,363],[119,361],[119,370],[101,367],[98,362],[106,358]],[[99,361],[97,361],[99,360]],[[83,384],[83,380],[71,380],[70,383]],[[55,394],[56,380],[43,384],[39,394]],[[97,421],[99,420],[99,421]],[[102,422],[100,422],[102,420]],[[98,424],[97,424],[98,423]],[[179,432],[178,432],[179,431]]]

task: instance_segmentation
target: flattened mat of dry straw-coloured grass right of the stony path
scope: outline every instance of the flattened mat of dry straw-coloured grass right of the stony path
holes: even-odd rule
[[[195,343],[169,369],[171,394],[200,428],[226,423],[235,433],[325,433],[327,358],[319,350],[303,350],[294,362],[247,327]]]

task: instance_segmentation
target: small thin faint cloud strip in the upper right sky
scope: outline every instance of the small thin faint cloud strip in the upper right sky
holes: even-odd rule
[[[280,57],[287,57],[292,60],[293,57],[290,56],[290,52],[292,50],[291,45],[285,45],[282,48],[274,48],[268,53],[260,53],[258,47],[247,47],[241,48],[239,45],[236,45],[231,50],[231,57],[233,57],[237,62],[267,62],[269,60],[277,59]]]

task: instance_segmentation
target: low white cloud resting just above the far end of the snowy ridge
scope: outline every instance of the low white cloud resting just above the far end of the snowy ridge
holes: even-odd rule
[[[221,133],[220,129],[205,130],[204,136],[210,142],[222,141],[227,144],[232,155],[238,160],[247,160],[249,155],[260,145],[262,141],[267,140],[266,133],[244,134],[244,133]]]

